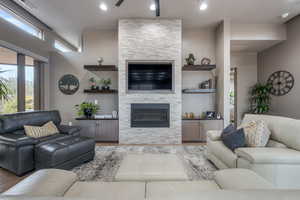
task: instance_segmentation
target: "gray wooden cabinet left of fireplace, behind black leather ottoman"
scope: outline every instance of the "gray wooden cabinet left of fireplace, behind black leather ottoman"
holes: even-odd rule
[[[77,119],[81,129],[81,136],[95,139],[96,142],[118,142],[118,119]]]

